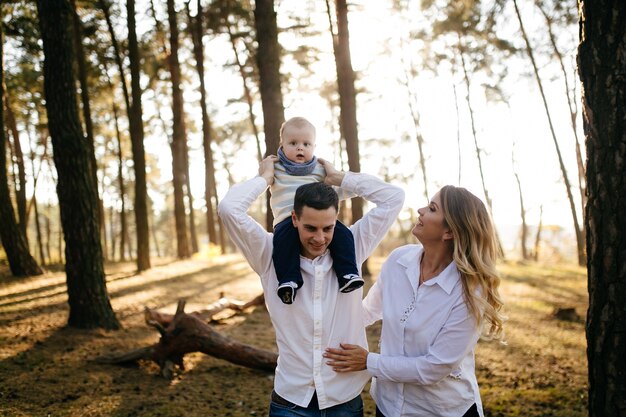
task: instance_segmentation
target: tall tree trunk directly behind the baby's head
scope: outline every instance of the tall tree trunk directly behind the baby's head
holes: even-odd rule
[[[285,121],[283,93],[280,82],[280,44],[274,0],[257,0],[254,8],[254,25],[258,49],[259,89],[263,107],[263,130],[265,131],[265,155],[276,155],[280,142],[280,126]],[[268,191],[269,193],[269,191]],[[266,228],[272,230],[273,216],[267,198]]]

